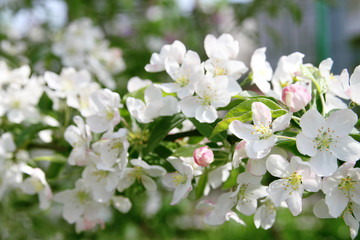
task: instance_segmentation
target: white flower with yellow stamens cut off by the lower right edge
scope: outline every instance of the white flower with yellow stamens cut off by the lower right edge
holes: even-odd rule
[[[360,204],[360,169],[354,162],[344,163],[333,175],[324,178],[322,190],[329,213],[338,217],[350,201]]]

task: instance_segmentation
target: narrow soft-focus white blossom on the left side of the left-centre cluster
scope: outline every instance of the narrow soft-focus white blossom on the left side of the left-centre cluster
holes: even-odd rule
[[[64,133],[65,140],[73,147],[68,162],[70,165],[84,166],[88,162],[91,132],[81,117],[75,116],[74,122],[77,126],[70,125]]]

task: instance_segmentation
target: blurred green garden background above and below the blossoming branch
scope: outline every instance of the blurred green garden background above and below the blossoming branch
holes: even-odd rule
[[[133,76],[154,82],[166,80],[162,73],[144,70],[151,53],[159,52],[164,44],[180,40],[205,60],[203,40],[210,33],[232,34],[240,43],[238,58],[247,66],[259,47],[267,48],[267,59],[274,69],[280,56],[296,51],[305,54],[305,63],[316,66],[331,57],[334,74],[344,68],[352,72],[360,64],[358,0],[0,0],[0,60],[13,68],[28,64],[35,75],[48,70],[59,73],[71,63],[86,68],[87,62],[72,62],[61,54],[65,49],[62,41],[69,31],[66,29],[84,19],[94,31],[88,35],[79,32],[81,39],[85,42],[96,35],[97,44],[105,44],[123,60],[112,72],[121,96]],[[74,51],[70,49],[69,54]],[[93,77],[101,82],[103,76],[91,67]],[[50,210],[41,211],[34,196],[11,192],[0,204],[0,239],[350,237],[341,219],[313,217],[313,196],[306,199],[300,216],[293,217],[289,210],[280,209],[273,228],[264,231],[255,228],[253,216],[242,216],[246,227],[234,222],[206,226],[202,213],[194,212],[196,203],[191,195],[188,201],[170,206],[171,196],[165,191],[148,196],[139,188],[128,194],[133,203],[129,213],[114,211],[105,229],[77,234],[74,226],[61,218],[60,206],[54,204]]]

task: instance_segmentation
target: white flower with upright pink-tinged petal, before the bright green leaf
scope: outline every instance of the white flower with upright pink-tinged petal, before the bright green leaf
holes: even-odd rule
[[[245,151],[249,158],[263,158],[277,142],[274,132],[287,128],[291,113],[285,114],[272,122],[271,111],[261,102],[251,105],[254,125],[235,120],[230,123],[229,130],[235,136],[245,139]]]

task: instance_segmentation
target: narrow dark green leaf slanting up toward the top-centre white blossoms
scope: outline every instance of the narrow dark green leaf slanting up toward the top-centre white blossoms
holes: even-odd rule
[[[176,114],[169,117],[161,117],[152,124],[150,136],[147,147],[144,150],[144,155],[151,152],[170,132],[171,129],[178,126],[185,120],[182,114]]]

